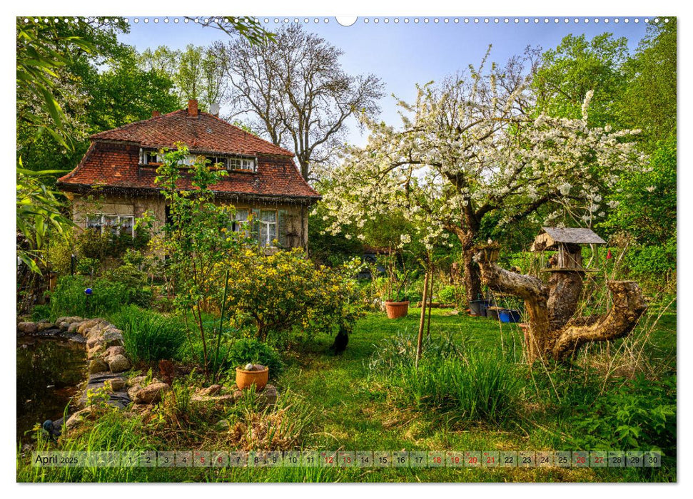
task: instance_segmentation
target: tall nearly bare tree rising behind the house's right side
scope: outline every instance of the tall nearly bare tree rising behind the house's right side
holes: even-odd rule
[[[300,24],[267,43],[239,38],[215,48],[228,61],[234,114],[254,116],[258,130],[293,150],[306,180],[311,165],[334,157],[350,117],[379,111],[380,80],[345,73],[343,51]]]

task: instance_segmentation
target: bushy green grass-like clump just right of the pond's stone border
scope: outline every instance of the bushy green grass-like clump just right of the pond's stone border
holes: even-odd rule
[[[133,305],[111,320],[123,331],[123,344],[133,361],[176,359],[186,340],[185,328],[176,319]]]

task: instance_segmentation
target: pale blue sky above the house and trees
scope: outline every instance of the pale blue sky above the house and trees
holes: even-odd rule
[[[131,22],[131,32],[120,37],[121,41],[135,46],[138,51],[159,45],[171,48],[184,48],[188,43],[208,45],[228,38],[216,29],[202,28],[193,23],[185,24],[182,18],[179,18],[181,22],[178,24],[173,23],[173,18],[168,24],[163,22],[163,17],[159,17],[156,24],[152,17],[148,18],[147,24],[143,19],[140,16],[138,23]],[[265,17],[260,18],[261,21],[264,19]],[[271,30],[285,18],[278,18],[279,24],[275,24],[272,16],[267,19],[270,22],[264,26]],[[295,18],[288,19],[293,22]],[[300,18],[302,24],[303,19],[305,18]],[[340,26],[333,17],[328,18],[328,23],[324,22],[324,17],[317,24],[314,19],[310,18],[308,24],[305,24],[306,28],[344,51],[342,63],[346,71],[374,73],[385,83],[385,98],[380,102],[383,110],[380,118],[395,125],[399,123],[399,118],[393,93],[405,101],[412,101],[415,98],[416,83],[437,81],[447,74],[467,68],[470,63],[478,64],[489,44],[493,47],[491,59],[498,63],[505,63],[507,58],[522,53],[530,45],[553,48],[567,34],[585,34],[587,38],[592,38],[609,32],[614,36],[626,37],[629,48],[634,50],[647,28],[644,18],[638,18],[638,23],[634,22],[634,18],[629,18],[629,23],[625,23],[623,18],[619,19],[619,23],[614,23],[614,18],[610,18],[608,24],[603,17],[600,17],[599,23],[595,23],[594,17],[590,17],[588,23],[585,23],[585,17],[580,17],[578,23],[575,23],[574,17],[568,23],[565,23],[564,17],[560,18],[559,23],[555,23],[555,18],[550,17],[550,21],[545,23],[545,18],[542,17],[538,24],[535,24],[535,18],[529,18],[528,23],[524,22],[525,18],[520,18],[520,22],[515,24],[515,18],[511,17],[508,24],[505,24],[505,18],[498,18],[497,24],[494,22],[495,18],[488,18],[489,22],[486,24],[486,18],[477,18],[479,22],[475,23],[475,18],[471,17],[467,18],[469,22],[465,24],[465,17],[449,17],[449,22],[445,24],[445,18],[438,17],[439,22],[435,24],[435,18],[429,17],[426,24],[425,18],[420,16],[406,18],[409,19],[408,23],[405,23],[404,17],[399,17],[396,24],[395,18],[389,18],[389,23],[385,24],[385,18],[379,17],[376,24],[376,18],[370,17],[366,23],[366,18],[361,17],[352,26]],[[414,19],[419,22],[415,23]],[[455,23],[454,19],[459,22]],[[365,140],[353,123],[348,139],[357,144]]]

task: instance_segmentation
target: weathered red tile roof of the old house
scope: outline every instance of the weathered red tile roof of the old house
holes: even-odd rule
[[[178,110],[149,120],[96,133],[84,158],[71,173],[59,178],[64,190],[83,190],[93,185],[118,189],[153,190],[155,168],[139,165],[139,150],[188,145],[192,152],[253,155],[257,171],[231,171],[213,190],[243,197],[312,198],[320,195],[303,180],[293,163],[293,153],[262,140],[208,113],[188,116]],[[183,178],[181,189],[191,188]]]

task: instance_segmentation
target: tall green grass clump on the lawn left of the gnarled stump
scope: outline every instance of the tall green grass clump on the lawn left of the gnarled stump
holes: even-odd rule
[[[395,337],[375,352],[369,368],[400,389],[405,403],[462,420],[500,423],[517,402],[514,364],[502,354],[456,344],[450,337],[426,341],[418,369],[415,341]]]

